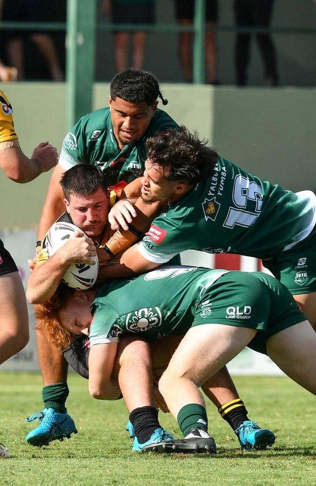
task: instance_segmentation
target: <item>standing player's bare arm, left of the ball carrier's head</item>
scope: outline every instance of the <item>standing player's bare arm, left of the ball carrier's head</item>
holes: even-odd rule
[[[64,213],[64,193],[60,185],[60,178],[65,170],[60,164],[56,165],[48,186],[47,196],[42,209],[42,215],[37,228],[37,240],[42,240],[47,230],[56,219]]]

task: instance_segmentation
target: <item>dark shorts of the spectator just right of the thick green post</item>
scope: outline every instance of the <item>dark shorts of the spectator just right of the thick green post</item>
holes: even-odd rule
[[[155,23],[155,2],[112,2],[113,24],[153,24]]]

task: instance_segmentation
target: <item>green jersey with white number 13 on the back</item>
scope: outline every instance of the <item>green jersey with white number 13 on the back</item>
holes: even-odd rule
[[[138,249],[155,263],[185,250],[269,258],[308,236],[315,222],[314,193],[286,191],[219,158],[213,176],[154,219]]]

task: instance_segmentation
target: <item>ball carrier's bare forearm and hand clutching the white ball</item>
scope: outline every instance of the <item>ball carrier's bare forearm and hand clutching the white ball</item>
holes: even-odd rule
[[[51,258],[41,260],[39,256],[39,261],[27,282],[28,301],[31,304],[39,304],[52,297],[69,266],[72,263],[94,265],[95,262],[91,257],[95,254],[96,247],[93,241],[76,231]]]

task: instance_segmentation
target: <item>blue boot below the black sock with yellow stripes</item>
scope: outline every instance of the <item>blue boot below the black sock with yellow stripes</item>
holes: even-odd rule
[[[251,420],[245,420],[234,432],[239,439],[241,448],[245,450],[265,449],[275,442],[275,435],[272,431],[261,429],[256,422]]]

